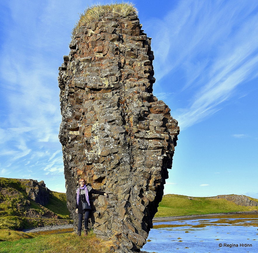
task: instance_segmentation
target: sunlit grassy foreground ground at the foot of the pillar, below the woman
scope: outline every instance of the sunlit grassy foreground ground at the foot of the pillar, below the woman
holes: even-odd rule
[[[96,235],[91,231],[87,237],[77,236],[75,233],[53,234],[53,235],[39,235],[32,234],[12,234],[11,231],[0,230],[1,234],[11,233],[9,236],[13,236],[19,240],[15,241],[0,241],[1,253],[109,253],[113,252],[115,247],[114,241],[104,241],[96,238]],[[34,238],[33,238],[34,236]],[[21,238],[21,239],[20,239]],[[30,238],[30,239],[28,239]]]

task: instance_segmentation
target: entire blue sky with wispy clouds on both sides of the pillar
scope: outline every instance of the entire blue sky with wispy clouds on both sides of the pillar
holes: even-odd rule
[[[87,6],[0,3],[0,177],[65,192],[58,67]],[[153,93],[181,132],[164,193],[258,198],[258,2],[133,1],[152,50]]]

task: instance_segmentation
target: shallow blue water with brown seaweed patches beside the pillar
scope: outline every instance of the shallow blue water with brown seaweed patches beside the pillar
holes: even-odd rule
[[[195,219],[154,225],[142,251],[258,252],[258,218]]]

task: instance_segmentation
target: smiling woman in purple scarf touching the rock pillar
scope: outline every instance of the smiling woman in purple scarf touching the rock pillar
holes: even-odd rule
[[[85,184],[85,180],[83,178],[79,179],[79,188],[77,189],[76,194],[76,210],[75,212],[78,214],[78,231],[77,235],[81,235],[82,231],[82,218],[84,215],[84,235],[88,235],[88,219],[91,211],[90,198],[91,194],[100,194],[108,197],[107,193],[103,191],[94,190],[91,186],[87,186]],[[85,204],[82,204],[85,203]],[[82,205],[86,205],[86,209],[83,209]]]

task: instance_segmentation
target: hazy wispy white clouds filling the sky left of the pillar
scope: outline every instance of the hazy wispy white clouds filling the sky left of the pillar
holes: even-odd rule
[[[11,0],[5,5],[10,20],[4,30],[0,63],[1,91],[5,94],[1,98],[5,108],[0,112],[2,176],[42,180],[44,174],[53,173],[63,178],[57,76],[62,56],[69,50],[70,31],[63,32],[67,27],[58,26],[60,15],[55,13],[65,14],[66,10],[53,2],[42,8],[37,2]],[[67,48],[56,57],[63,41],[53,38],[59,33],[60,38],[66,34]]]

